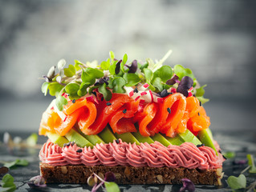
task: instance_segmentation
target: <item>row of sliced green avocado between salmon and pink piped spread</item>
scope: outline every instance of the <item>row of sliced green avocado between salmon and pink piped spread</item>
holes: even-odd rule
[[[140,131],[134,133],[114,134],[110,126],[106,126],[106,128],[101,131],[100,134],[85,135],[80,130],[72,129],[65,135],[65,137],[52,133],[47,133],[47,136],[50,138],[51,142],[54,142],[59,146],[63,146],[64,143],[67,142],[75,142],[80,147],[93,147],[97,143],[109,143],[113,142],[117,138],[122,139],[123,142],[135,142],[136,145],[140,145],[140,142],[148,142],[150,144],[155,141],[161,142],[163,146],[180,146],[184,142],[192,142],[195,146],[197,146],[203,143],[205,146],[213,148],[217,154],[217,150],[213,145],[213,136],[209,128],[199,131],[198,138],[190,130],[185,130],[185,133],[177,134],[175,138],[167,137],[164,134],[155,134],[152,137],[144,137],[140,134]]]

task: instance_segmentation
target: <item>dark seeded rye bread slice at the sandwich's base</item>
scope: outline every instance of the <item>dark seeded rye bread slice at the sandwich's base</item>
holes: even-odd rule
[[[117,184],[181,184],[182,178],[189,178],[195,185],[221,186],[222,167],[199,170],[148,166],[51,166],[40,163],[40,171],[47,183],[87,183],[91,174],[105,174],[112,171]]]

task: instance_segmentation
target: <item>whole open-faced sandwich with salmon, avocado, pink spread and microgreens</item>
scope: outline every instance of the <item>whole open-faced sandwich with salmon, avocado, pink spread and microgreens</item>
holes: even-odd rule
[[[160,61],[58,63],[43,76],[56,98],[39,134],[49,139],[39,157],[47,183],[87,183],[111,171],[120,184],[221,185],[222,162],[209,130],[200,86],[191,70]]]

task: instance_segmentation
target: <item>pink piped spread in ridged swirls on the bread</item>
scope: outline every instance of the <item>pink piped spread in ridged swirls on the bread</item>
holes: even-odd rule
[[[119,140],[108,144],[96,144],[93,149],[84,147],[78,153],[78,146],[60,148],[48,141],[43,145],[39,158],[55,166],[77,165],[85,166],[150,166],[150,167],[185,167],[189,169],[217,169],[222,166],[224,158],[208,146],[197,147],[185,142],[181,146],[163,146],[160,142],[152,144],[126,143]]]

